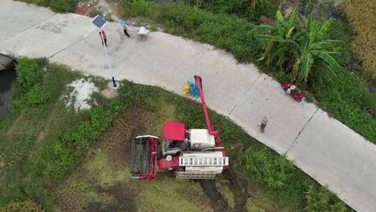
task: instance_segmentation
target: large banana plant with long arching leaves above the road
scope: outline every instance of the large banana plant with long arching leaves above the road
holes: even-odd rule
[[[318,24],[304,19],[297,13],[297,7],[283,17],[281,11],[276,13],[274,26],[259,26],[249,33],[263,43],[265,52],[260,60],[267,59],[267,65],[275,65],[288,73],[292,82],[307,81],[310,75],[319,79],[332,79],[339,70],[333,58],[338,40],[324,37],[332,20]]]

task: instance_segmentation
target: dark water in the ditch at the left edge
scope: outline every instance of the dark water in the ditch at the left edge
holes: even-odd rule
[[[10,109],[10,86],[16,77],[14,66],[0,70],[0,114],[5,114]]]

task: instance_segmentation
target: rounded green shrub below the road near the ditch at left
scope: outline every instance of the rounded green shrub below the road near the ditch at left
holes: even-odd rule
[[[40,70],[38,63],[27,57],[17,59],[16,64],[17,80],[24,89],[31,89],[34,84],[42,82],[43,72]]]

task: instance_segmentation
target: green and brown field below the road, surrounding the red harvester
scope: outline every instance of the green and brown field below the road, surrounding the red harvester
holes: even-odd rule
[[[166,121],[205,128],[199,103],[155,86],[123,81],[115,98],[93,93],[92,108],[76,112],[65,105],[64,96],[70,92],[66,85],[84,76],[38,61],[45,60],[19,59],[17,68],[45,68],[41,87],[50,98],[38,105],[25,103],[0,119],[1,156],[6,160],[0,172],[0,211],[40,211],[40,206],[45,211],[144,211],[150,206],[171,211],[177,206],[166,203],[176,197],[179,206],[184,205],[182,211],[211,210],[207,190],[197,181],[170,174],[150,183],[129,178],[130,139],[143,134],[162,137]],[[90,78],[100,90],[106,87],[106,80]],[[231,161],[229,171],[212,188],[228,211],[352,211],[226,117],[212,111],[210,117],[221,126]]]

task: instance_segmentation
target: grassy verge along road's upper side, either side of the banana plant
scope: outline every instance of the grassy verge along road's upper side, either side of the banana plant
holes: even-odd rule
[[[279,82],[286,80],[285,75],[276,70],[276,66],[267,66],[264,61],[256,61],[256,56],[263,50],[259,41],[253,40],[248,34],[255,25],[241,15],[237,17],[226,13],[214,14],[181,2],[170,6],[157,5],[150,1],[121,2],[126,14],[148,17],[164,24],[167,33],[228,50],[238,61],[254,62],[260,70],[273,75]],[[346,36],[348,31],[343,22],[336,20],[328,36],[350,43],[350,37]],[[344,66],[351,58],[350,47],[342,45],[339,48],[343,55],[338,61]],[[375,96],[368,93],[366,83],[361,78],[346,73],[345,68],[336,72],[336,75],[334,82],[308,84],[306,89],[320,101],[319,106],[322,109],[375,143],[376,119],[369,113],[376,109]]]

